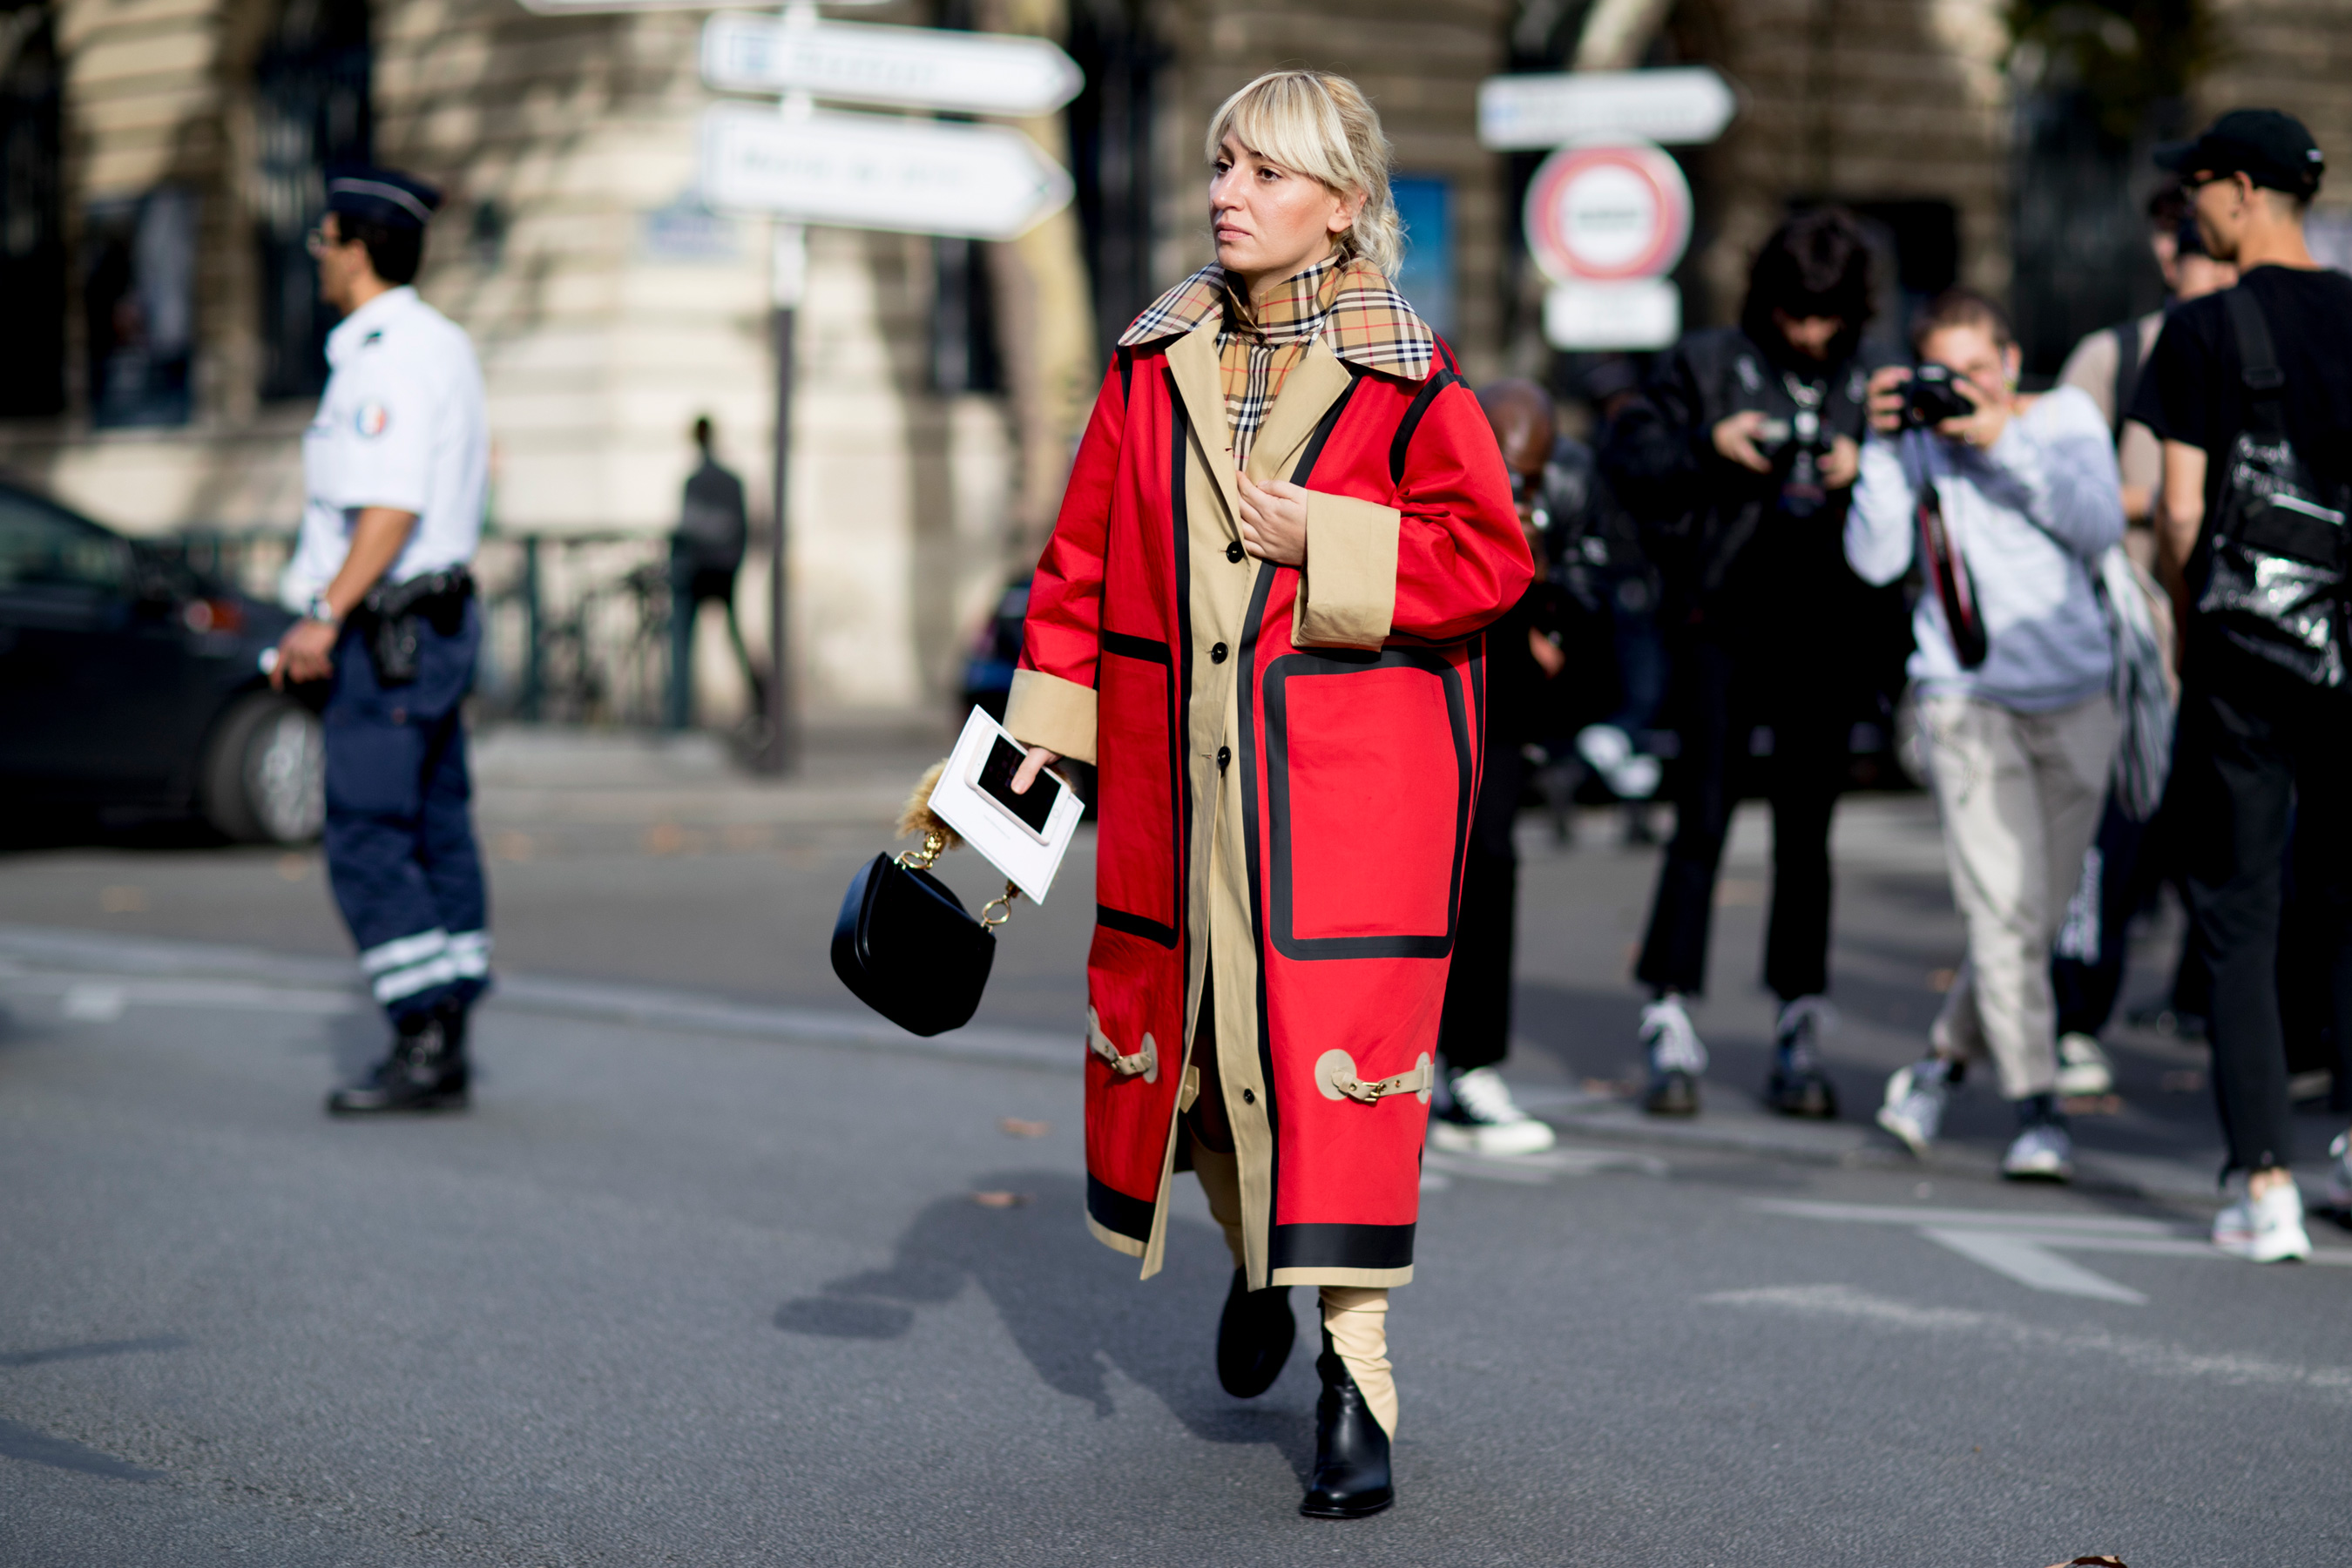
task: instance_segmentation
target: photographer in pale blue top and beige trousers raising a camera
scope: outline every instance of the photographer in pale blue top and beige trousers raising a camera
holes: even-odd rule
[[[2067,1180],[2051,943],[2122,729],[2091,583],[2124,536],[2114,440],[2082,388],[2018,397],[2016,336],[1983,294],[1931,301],[1912,350],[1917,369],[1870,378],[1846,559],[1870,583],[1912,564],[1926,578],[1910,677],[1969,959],[1879,1126],[1924,1154],[1969,1058],[1990,1053],[2018,1110],[2002,1175]]]

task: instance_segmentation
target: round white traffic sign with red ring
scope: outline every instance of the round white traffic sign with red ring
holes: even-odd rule
[[[1555,282],[1663,277],[1691,242],[1691,183],[1665,148],[1609,136],[1545,158],[1522,221]]]

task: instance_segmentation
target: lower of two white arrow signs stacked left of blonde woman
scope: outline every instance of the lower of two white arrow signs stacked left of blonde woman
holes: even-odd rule
[[[1070,176],[1000,125],[703,113],[703,200],[800,223],[1014,240],[1070,200]]]

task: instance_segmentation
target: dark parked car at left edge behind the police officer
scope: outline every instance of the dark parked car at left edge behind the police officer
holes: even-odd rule
[[[254,844],[318,837],[318,715],[261,672],[292,621],[0,482],[0,802],[202,816]]]

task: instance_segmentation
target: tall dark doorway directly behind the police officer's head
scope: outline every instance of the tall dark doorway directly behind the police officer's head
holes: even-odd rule
[[[372,155],[369,63],[367,0],[285,0],[254,61],[263,397],[327,386],[334,313],[318,299],[308,235],[327,209],[327,167]]]

